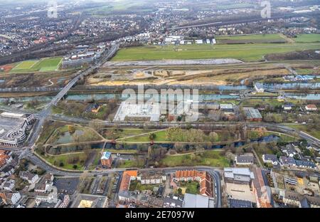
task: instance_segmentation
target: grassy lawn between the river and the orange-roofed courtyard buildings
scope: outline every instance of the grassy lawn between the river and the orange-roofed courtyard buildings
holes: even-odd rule
[[[206,151],[197,154],[185,154],[179,156],[166,156],[159,162],[160,166],[174,167],[174,166],[216,166],[228,167],[229,160],[220,155],[220,151]]]

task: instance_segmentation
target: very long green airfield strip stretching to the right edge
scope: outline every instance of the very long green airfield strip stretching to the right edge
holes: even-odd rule
[[[122,48],[112,60],[236,58],[244,61],[257,61],[274,52],[287,53],[308,49],[320,49],[320,43],[139,46]]]

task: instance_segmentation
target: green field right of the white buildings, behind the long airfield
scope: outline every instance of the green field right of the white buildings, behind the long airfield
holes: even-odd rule
[[[242,35],[242,36],[216,36],[215,39],[220,44],[239,43],[286,43],[287,41],[279,34],[265,35]]]

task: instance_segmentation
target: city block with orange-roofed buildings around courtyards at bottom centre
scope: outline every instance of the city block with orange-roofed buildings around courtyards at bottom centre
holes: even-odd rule
[[[170,180],[169,183],[166,181]],[[172,189],[181,182],[196,181],[198,194],[174,194]],[[132,190],[131,184],[154,185],[153,190]],[[164,194],[166,190],[166,194]],[[164,207],[164,208],[198,208],[214,207],[213,179],[206,171],[186,170],[165,174],[164,171],[124,171],[119,188],[118,207]]]

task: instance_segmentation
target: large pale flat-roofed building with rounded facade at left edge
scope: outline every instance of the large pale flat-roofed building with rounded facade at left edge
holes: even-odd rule
[[[13,112],[0,114],[0,145],[18,147],[26,139],[26,129],[34,121],[33,115]]]

